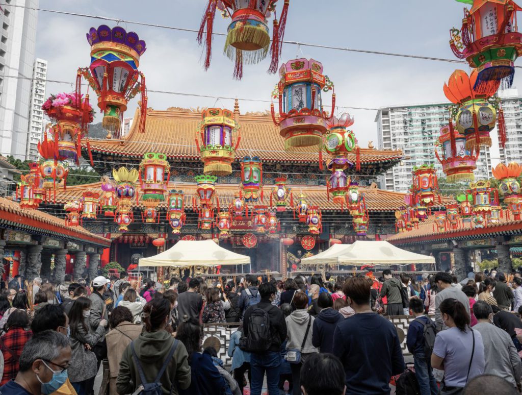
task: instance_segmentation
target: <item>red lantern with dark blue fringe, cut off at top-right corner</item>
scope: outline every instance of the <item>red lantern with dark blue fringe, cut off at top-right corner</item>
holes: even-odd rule
[[[522,8],[513,0],[457,1],[472,7],[464,9],[462,28],[449,31],[449,46],[455,56],[477,67],[473,87],[483,91],[501,81],[510,87],[514,62],[522,51],[522,34],[516,20],[516,12]]]

